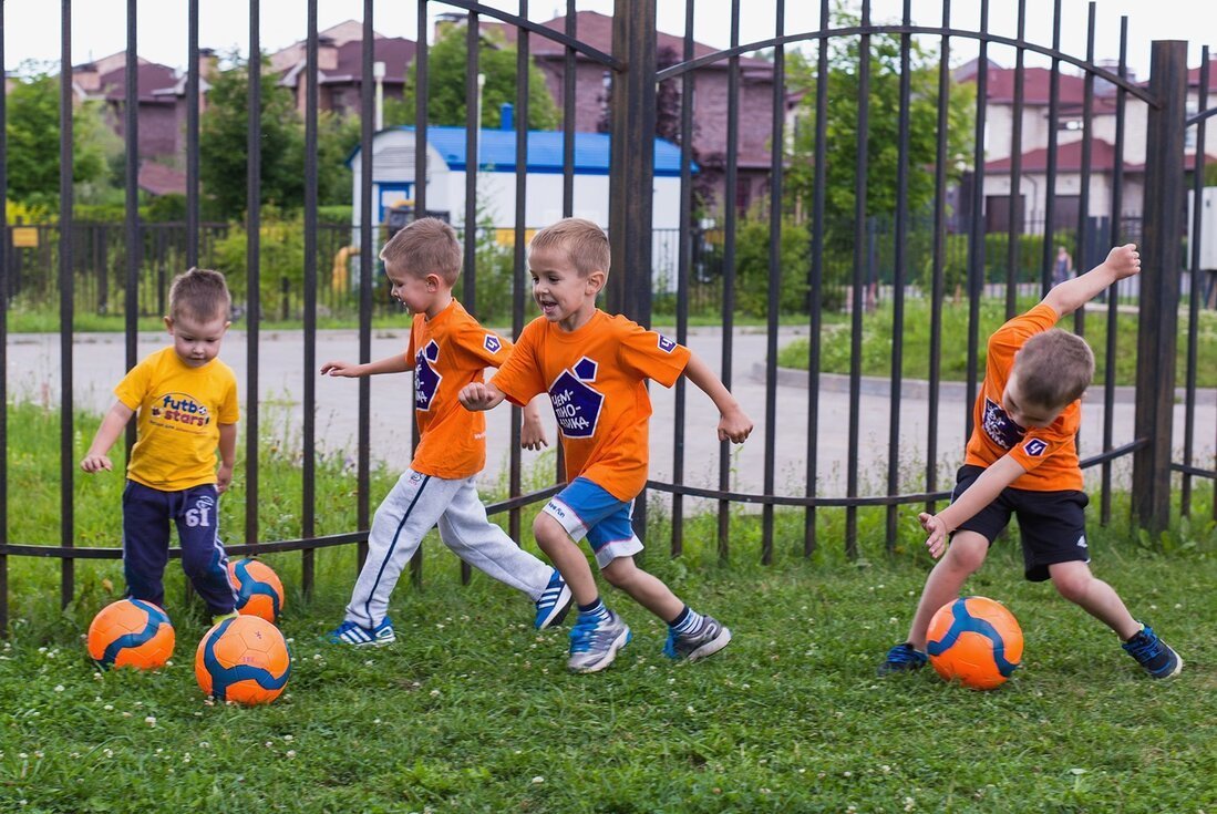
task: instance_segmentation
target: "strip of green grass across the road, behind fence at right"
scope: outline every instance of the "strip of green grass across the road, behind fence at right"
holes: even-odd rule
[[[1034,301],[1020,301],[1019,309],[1026,310]],[[985,350],[988,336],[1005,321],[1004,301],[986,299],[981,303],[978,330],[978,369],[985,370]],[[968,303],[947,302],[942,309],[942,378],[963,381],[968,374]],[[892,304],[885,303],[873,313],[863,316],[862,375],[891,376],[892,372]],[[1217,313],[1201,311],[1198,336],[1199,359],[1212,359],[1217,355]],[[1072,331],[1073,319],[1061,320],[1061,327]],[[1094,383],[1106,381],[1106,309],[1099,304],[1086,314],[1084,333],[1087,342],[1095,353],[1097,370]],[[1179,384],[1187,370],[1187,315],[1179,320],[1179,343],[1177,363]],[[905,378],[927,378],[930,359],[930,305],[926,301],[908,301],[904,308],[903,332],[903,376]],[[809,342],[800,337],[778,353],[778,364],[783,367],[807,369]],[[829,374],[848,374],[851,339],[848,322],[825,325],[821,333],[820,370]],[[1134,384],[1137,377],[1137,314],[1120,314],[1116,327],[1116,383]],[[1200,387],[1217,387],[1217,366],[1201,364],[1196,370],[1196,383]]]

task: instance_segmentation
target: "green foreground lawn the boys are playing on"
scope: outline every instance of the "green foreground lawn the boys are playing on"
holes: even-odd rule
[[[55,457],[57,422],[40,425],[32,410],[12,410],[10,439],[27,445],[10,450],[10,470],[54,483],[54,467],[38,467]],[[290,456],[268,448],[264,457],[268,500],[259,517],[286,532],[298,522],[298,498],[285,496],[298,493],[298,475]],[[338,460],[324,461],[323,472],[323,524],[353,528],[353,477]],[[378,499],[392,473],[376,477]],[[22,528],[57,539],[54,524],[39,532],[57,498],[16,492],[33,479],[19,483],[10,487],[21,495],[10,524],[40,517]],[[85,492],[97,493],[97,503],[77,504],[78,528],[114,527],[111,489],[89,484]],[[1195,517],[1211,516],[1211,500],[1206,485]],[[229,529],[240,528],[240,506],[223,503]],[[840,512],[819,512],[820,548],[809,560],[797,552],[802,513],[779,512],[769,567],[758,565],[756,515],[733,517],[729,565],[716,555],[716,518],[690,520],[686,552],[672,560],[663,552],[668,521],[657,511],[651,516],[646,567],[735,633],[712,659],[668,662],[660,653],[663,627],[608,593],[634,641],[605,673],[570,675],[566,631],[533,631],[527,599],[481,574],[462,586],[458,561],[434,539],[425,544],[422,588],[403,579],[393,596],[398,642],[371,652],[331,649],[319,636],[341,618],[355,576],[353,548],[319,552],[309,597],[299,591],[301,555],[282,554],[267,561],[287,585],[282,630],[293,672],[284,697],[252,709],[214,706],[198,690],[192,664],[204,622],[198,600],[185,596],[176,563],[167,574],[174,662],[151,674],[100,673],[84,655],[82,635],[92,613],[120,591],[118,562],[78,562],[75,601],[61,612],[57,563],[10,557],[13,621],[0,645],[0,810],[1217,805],[1217,752],[1207,726],[1217,717],[1211,522],[1177,521],[1151,541],[1126,528],[1120,505],[1118,522],[1089,534],[1097,574],[1188,662],[1179,679],[1163,684],[1140,675],[1100,623],[1051,588],[1023,582],[1017,546],[999,543],[966,590],[1000,599],[1016,613],[1027,652],[1006,686],[980,694],[929,670],[874,678],[876,662],[904,635],[931,565],[912,511],[894,556],[884,554],[882,510],[860,511],[858,562],[841,554]]]

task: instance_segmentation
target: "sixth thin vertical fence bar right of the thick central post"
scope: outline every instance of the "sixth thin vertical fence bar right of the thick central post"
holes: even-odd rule
[[[913,24],[912,0],[904,0],[903,23]],[[891,410],[888,412],[887,432],[887,494],[899,494],[901,487],[901,389],[904,382],[904,263],[905,242],[908,240],[908,203],[909,203],[909,103],[913,96],[910,68],[912,35],[901,34],[901,108],[899,108],[899,146],[896,164],[896,251],[892,280],[892,377]],[[887,551],[896,550],[896,521],[899,506],[887,507]]]

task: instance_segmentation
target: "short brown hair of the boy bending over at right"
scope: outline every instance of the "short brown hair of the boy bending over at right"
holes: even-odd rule
[[[1053,329],[1028,338],[1014,360],[1025,402],[1055,410],[1082,397],[1094,378],[1094,353],[1079,336]]]

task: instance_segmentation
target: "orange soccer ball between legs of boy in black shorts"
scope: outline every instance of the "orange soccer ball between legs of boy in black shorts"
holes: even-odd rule
[[[1014,613],[983,596],[947,602],[930,619],[930,664],[947,681],[972,690],[1005,684],[1022,661],[1022,629]]]

